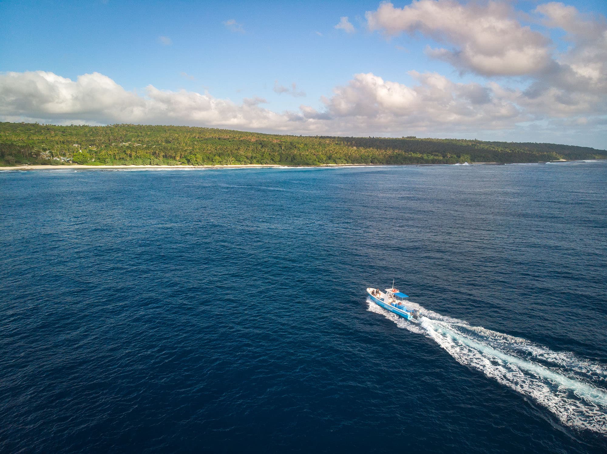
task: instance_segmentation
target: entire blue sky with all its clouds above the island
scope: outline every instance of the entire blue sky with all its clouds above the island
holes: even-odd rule
[[[0,121],[607,148],[607,1],[0,1]]]

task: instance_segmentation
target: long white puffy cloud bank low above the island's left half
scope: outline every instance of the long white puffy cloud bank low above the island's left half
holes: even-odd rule
[[[6,73],[0,76],[0,115],[50,122],[69,119],[100,123],[225,125],[241,128],[285,126],[285,116],[259,107],[261,98],[236,104],[208,93],[158,90],[148,85],[145,96],[124,90],[100,73],[76,81],[50,72]]]

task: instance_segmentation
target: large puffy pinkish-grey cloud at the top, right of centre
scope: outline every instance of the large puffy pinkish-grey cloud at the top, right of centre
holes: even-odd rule
[[[550,62],[549,40],[523,26],[505,2],[459,4],[455,0],[414,0],[396,8],[382,2],[365,13],[369,30],[387,36],[421,33],[452,48],[428,48],[427,53],[462,71],[485,76],[538,73]]]

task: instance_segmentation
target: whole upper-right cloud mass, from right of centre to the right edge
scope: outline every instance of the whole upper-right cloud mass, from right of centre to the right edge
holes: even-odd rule
[[[600,15],[584,16],[575,7],[560,2],[538,5],[538,22],[565,31],[568,50],[554,52],[548,36],[531,30],[518,20],[510,2],[469,2],[455,0],[414,0],[396,8],[382,2],[367,12],[369,30],[386,36],[420,33],[449,45],[428,46],[428,55],[449,62],[463,72],[481,76],[526,76],[531,87],[524,93],[534,98],[540,93],[560,90],[567,104],[575,92],[607,92],[607,23]]]

